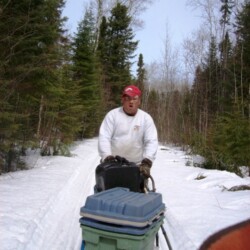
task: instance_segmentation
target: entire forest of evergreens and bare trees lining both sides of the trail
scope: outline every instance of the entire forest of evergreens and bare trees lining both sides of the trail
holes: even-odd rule
[[[163,60],[146,65],[135,30],[150,4],[91,0],[70,35],[64,0],[0,0],[0,174],[26,169],[28,150],[70,156],[135,84],[161,143],[202,155],[205,168],[250,175],[249,0],[187,0],[201,28],[182,57],[167,32]]]

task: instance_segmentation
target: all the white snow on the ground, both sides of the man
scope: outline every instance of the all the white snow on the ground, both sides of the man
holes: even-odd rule
[[[0,176],[2,250],[79,250],[80,208],[93,194],[100,158],[97,138],[77,142],[72,157],[41,157],[31,151],[30,170]],[[198,249],[214,232],[250,218],[250,177],[194,167],[196,157],[159,145],[152,167],[166,205],[164,228],[173,249]],[[159,249],[168,249],[159,232]]]

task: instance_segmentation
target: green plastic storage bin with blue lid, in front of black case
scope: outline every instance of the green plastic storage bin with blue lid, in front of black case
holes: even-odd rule
[[[91,195],[80,211],[85,249],[120,249],[124,242],[134,249],[152,247],[164,212],[159,193],[117,187]]]

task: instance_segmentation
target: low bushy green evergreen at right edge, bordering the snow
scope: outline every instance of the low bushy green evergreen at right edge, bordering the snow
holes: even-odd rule
[[[249,121],[240,113],[219,116],[211,130],[206,167],[241,174],[240,166],[250,166],[249,134]]]

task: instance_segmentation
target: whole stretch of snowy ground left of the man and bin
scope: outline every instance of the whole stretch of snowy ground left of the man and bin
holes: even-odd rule
[[[73,159],[43,157],[38,162],[41,167],[11,173],[1,180],[1,230],[4,228],[10,237],[11,232],[16,234],[11,242],[0,236],[2,249],[34,250],[34,246],[35,249],[51,249],[51,246],[53,249],[80,249],[80,207],[93,193],[94,170],[99,157],[87,142],[72,153]],[[15,196],[14,207],[4,204],[4,193],[8,200],[10,190]],[[37,200],[29,196],[29,190],[36,194]],[[15,225],[16,221],[19,224]]]

